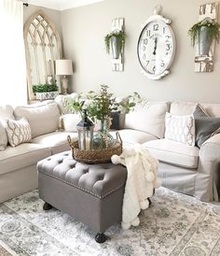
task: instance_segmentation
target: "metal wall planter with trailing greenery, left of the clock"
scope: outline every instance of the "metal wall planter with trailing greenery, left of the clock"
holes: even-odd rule
[[[114,59],[119,58],[120,53],[125,45],[125,37],[126,35],[123,30],[113,31],[104,36],[106,52],[109,54],[111,48]]]

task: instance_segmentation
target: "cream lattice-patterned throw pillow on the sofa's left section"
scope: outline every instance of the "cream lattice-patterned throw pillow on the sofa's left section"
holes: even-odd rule
[[[19,121],[7,120],[7,138],[11,147],[30,142],[32,133],[29,122],[24,118]]]

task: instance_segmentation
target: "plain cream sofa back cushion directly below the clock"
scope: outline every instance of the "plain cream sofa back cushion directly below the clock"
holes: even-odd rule
[[[162,138],[165,127],[165,114],[168,111],[166,102],[147,102],[142,108],[126,114],[125,128],[139,130]]]

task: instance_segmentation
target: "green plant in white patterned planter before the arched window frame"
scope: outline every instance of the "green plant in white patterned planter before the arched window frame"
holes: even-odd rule
[[[37,84],[33,85],[33,92],[37,100],[54,99],[58,94],[57,84]]]

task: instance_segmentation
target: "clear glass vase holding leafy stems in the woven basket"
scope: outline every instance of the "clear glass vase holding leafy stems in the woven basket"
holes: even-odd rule
[[[114,138],[109,134],[108,121],[101,121],[100,130],[92,138],[92,149],[107,149],[111,148]]]

